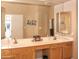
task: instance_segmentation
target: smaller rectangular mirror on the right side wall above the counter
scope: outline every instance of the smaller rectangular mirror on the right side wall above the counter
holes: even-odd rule
[[[70,30],[70,12],[60,12],[56,14],[56,32],[64,35],[71,33]]]

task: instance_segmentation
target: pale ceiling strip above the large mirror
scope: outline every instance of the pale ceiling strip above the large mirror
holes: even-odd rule
[[[2,2],[31,3],[42,5],[56,5],[69,0],[1,0]]]

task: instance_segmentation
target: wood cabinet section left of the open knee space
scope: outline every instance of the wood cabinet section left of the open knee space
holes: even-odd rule
[[[16,48],[2,50],[2,59],[34,59],[33,48]]]

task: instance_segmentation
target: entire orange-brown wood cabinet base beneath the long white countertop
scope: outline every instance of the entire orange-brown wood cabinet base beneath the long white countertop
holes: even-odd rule
[[[34,47],[2,49],[2,59],[36,59],[36,50],[48,51],[48,59],[71,59],[72,42],[40,45]]]

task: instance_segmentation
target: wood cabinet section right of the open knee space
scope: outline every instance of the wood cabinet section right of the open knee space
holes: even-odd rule
[[[71,59],[72,42],[51,45],[50,59]]]

